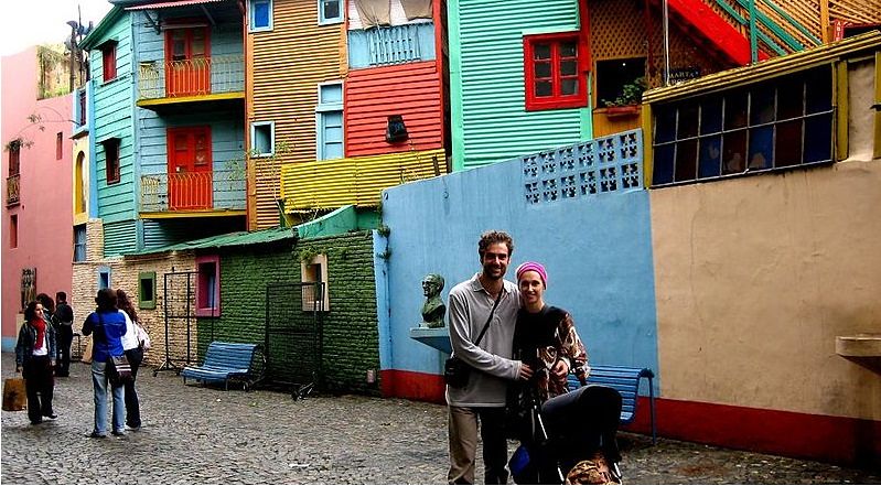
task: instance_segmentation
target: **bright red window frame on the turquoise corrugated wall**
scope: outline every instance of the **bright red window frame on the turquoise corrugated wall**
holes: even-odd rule
[[[576,45],[574,57],[563,57],[560,52],[560,46],[563,42],[571,42]],[[547,44],[550,46],[549,60],[536,60],[535,51],[537,45]],[[579,32],[560,32],[554,34],[537,34],[524,35],[523,37],[523,53],[524,53],[524,74],[525,74],[525,90],[526,90],[526,109],[533,110],[547,110],[558,108],[580,108],[588,105],[588,79],[584,75],[584,60],[587,58],[587,46],[582,42],[582,36]],[[576,62],[576,73],[572,75],[562,75],[561,63],[563,61]],[[539,63],[548,63],[550,65],[549,77],[536,77],[536,65]],[[578,87],[574,94],[561,94],[562,80],[576,79]],[[537,96],[536,83],[550,82],[551,95]]]

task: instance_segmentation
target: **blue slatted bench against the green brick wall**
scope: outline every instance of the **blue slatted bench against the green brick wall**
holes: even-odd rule
[[[244,382],[247,391],[262,379],[266,368],[266,358],[258,344],[222,343],[215,341],[205,352],[205,363],[202,366],[186,366],[181,370],[183,382],[192,378],[197,382],[224,382],[224,389],[229,389],[230,380]]]

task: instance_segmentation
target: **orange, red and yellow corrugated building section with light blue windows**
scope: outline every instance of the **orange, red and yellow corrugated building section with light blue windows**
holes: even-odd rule
[[[250,228],[447,172],[442,2],[379,4],[248,2]]]

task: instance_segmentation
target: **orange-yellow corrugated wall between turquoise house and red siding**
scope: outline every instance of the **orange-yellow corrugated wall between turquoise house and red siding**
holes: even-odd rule
[[[319,25],[318,2],[276,0],[272,14],[272,31],[248,34],[249,121],[275,121],[290,151],[256,161],[250,229],[278,226],[278,166],[315,161],[318,84],[342,79],[347,65],[345,24]]]

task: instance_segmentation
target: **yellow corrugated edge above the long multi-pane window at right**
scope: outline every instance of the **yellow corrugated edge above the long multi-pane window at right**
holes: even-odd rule
[[[643,93],[643,102],[672,101],[720,89],[754,84],[773,77],[832,63],[842,56],[881,47],[881,32],[869,32],[832,44],[821,45],[759,64],[723,71],[675,86],[654,88]]]

